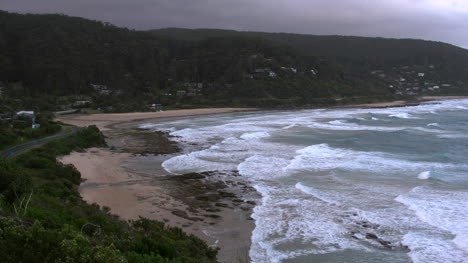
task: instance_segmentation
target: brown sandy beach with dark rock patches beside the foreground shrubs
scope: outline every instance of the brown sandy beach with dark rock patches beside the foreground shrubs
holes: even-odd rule
[[[88,203],[110,208],[122,219],[164,221],[219,247],[220,262],[249,262],[250,217],[260,196],[236,171],[168,175],[160,166],[177,155],[177,143],[164,133],[137,128],[152,122],[253,109],[199,109],[151,113],[67,115],[58,120],[77,126],[97,125],[108,148],[73,152],[60,159],[80,171],[80,194]],[[143,169],[143,168],[144,169]]]

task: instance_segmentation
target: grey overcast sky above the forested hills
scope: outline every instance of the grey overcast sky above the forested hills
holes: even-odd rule
[[[468,48],[468,0],[0,0],[134,29],[224,28],[420,38]]]

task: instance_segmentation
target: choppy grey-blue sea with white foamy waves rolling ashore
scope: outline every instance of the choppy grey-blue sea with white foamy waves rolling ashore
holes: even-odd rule
[[[468,100],[142,127],[188,146],[168,172],[252,182],[252,262],[468,262]]]

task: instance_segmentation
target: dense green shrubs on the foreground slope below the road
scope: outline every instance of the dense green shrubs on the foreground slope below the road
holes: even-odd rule
[[[0,159],[2,262],[216,262],[217,250],[179,228],[123,221],[84,202],[80,173],[57,158],[105,145],[97,127]]]

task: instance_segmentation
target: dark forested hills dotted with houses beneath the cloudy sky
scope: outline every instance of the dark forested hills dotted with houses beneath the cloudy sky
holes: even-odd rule
[[[155,104],[293,107],[466,95],[466,72],[468,51],[440,42],[135,31],[65,15],[0,11],[0,113],[67,110],[77,101],[135,111]]]

